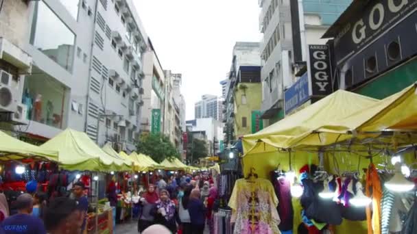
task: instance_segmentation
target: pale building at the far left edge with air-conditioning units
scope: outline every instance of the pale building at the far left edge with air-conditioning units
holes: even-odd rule
[[[25,1],[5,0],[0,9],[0,128],[20,131],[29,122],[21,100],[24,74],[32,72],[32,56],[25,51],[30,12]]]

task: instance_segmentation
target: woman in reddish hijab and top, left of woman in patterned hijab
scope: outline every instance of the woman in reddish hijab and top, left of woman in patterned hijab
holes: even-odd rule
[[[154,185],[149,185],[147,192],[143,194],[143,197],[139,200],[142,206],[142,212],[139,214],[138,231],[139,233],[147,229],[148,226],[154,224],[154,216],[152,211],[156,207],[156,203],[159,201],[159,196],[155,192]]]

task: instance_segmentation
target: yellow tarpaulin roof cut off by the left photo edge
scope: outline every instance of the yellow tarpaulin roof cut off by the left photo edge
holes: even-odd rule
[[[22,142],[11,135],[0,131],[0,159],[1,160],[19,160],[31,157],[40,157],[48,161],[58,161],[58,151],[47,150]]]

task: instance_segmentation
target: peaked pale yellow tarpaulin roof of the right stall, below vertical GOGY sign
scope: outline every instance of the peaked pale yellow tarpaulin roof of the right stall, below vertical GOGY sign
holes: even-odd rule
[[[245,135],[242,138],[243,152],[257,153],[265,150],[276,151],[276,148],[291,148],[303,145],[323,146],[333,144],[336,140],[344,140],[339,134],[316,134],[315,130],[331,121],[339,120],[377,103],[377,99],[337,90],[324,99],[305,107],[305,109],[276,122],[258,133]],[[346,139],[345,139],[346,140]],[[254,148],[257,142],[261,148]],[[272,146],[272,147],[271,147]],[[264,150],[265,147],[265,150]],[[270,149],[267,149],[270,147]],[[252,153],[252,152],[251,152]]]

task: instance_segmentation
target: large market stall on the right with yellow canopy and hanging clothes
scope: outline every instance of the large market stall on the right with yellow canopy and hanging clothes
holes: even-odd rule
[[[276,198],[279,203],[278,213],[272,212],[266,219],[269,222],[257,220],[254,225],[250,220],[253,216],[241,216],[233,220],[239,224],[235,231],[248,222],[253,230],[274,232],[271,220],[279,216],[283,218],[281,231],[294,233],[325,229],[334,233],[401,231],[407,222],[401,220],[403,226],[398,218],[392,218],[390,213],[397,210],[384,207],[383,200],[398,200],[399,191],[410,191],[415,186],[410,181],[416,177],[412,168],[416,161],[415,92],[412,86],[377,101],[337,91],[259,133],[243,137],[246,179],[237,181],[229,206],[235,212],[250,213],[244,210],[252,206],[245,206],[243,194],[252,192],[258,200],[270,200],[265,200],[270,207],[275,206]],[[390,165],[392,159],[398,161]],[[401,170],[411,173],[403,175]],[[366,183],[359,183],[362,176]],[[383,187],[376,187],[379,181]],[[413,192],[401,196],[402,200],[407,200],[403,196],[411,196],[409,201],[416,199]],[[403,213],[412,214],[415,209],[405,207]],[[283,211],[291,211],[291,215]],[[390,222],[396,222],[396,226],[387,224]]]

